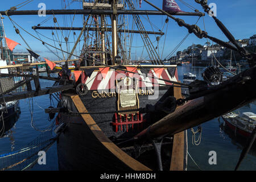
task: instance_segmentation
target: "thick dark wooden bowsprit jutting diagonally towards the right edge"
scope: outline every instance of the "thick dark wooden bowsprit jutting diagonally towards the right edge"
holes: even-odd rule
[[[256,67],[229,78],[217,88],[177,107],[174,113],[152,124],[134,139],[146,139],[147,131],[151,138],[176,134],[252,102],[256,98]]]

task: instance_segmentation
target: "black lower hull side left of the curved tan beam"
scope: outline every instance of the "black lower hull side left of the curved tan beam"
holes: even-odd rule
[[[60,117],[69,126],[57,141],[59,170],[131,170],[98,140],[81,117]]]

